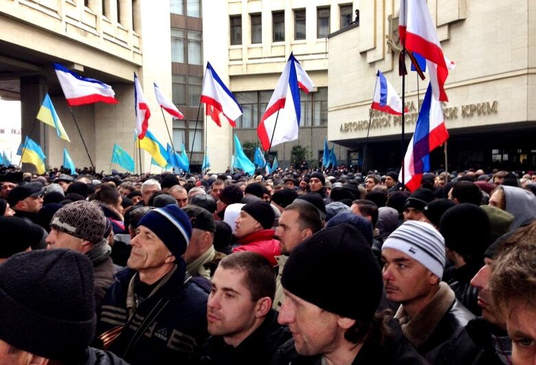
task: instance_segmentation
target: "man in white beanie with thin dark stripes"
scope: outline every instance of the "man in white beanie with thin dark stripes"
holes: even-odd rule
[[[423,355],[450,338],[474,315],[441,282],[445,240],[429,223],[406,221],[381,247],[386,297],[400,303],[394,316]]]

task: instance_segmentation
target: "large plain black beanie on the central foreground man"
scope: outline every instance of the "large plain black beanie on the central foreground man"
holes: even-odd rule
[[[326,272],[337,272],[337,279]],[[374,316],[383,291],[370,246],[347,223],[321,230],[298,245],[284,265],[281,283],[317,307],[356,320]]]

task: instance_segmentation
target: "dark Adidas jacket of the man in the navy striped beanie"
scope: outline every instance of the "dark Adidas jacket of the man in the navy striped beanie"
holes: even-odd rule
[[[144,300],[134,294],[138,274],[128,267],[116,274],[115,283],[104,297],[96,333],[126,324],[109,350],[133,365],[190,364],[194,350],[208,337],[208,292],[195,280],[185,280],[186,263],[182,259],[176,263]],[[125,355],[142,322],[166,300],[166,307]]]

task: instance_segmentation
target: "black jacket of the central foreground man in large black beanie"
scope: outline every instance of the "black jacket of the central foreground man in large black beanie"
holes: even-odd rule
[[[353,365],[420,365],[428,362],[417,353],[401,331],[397,320],[391,320],[392,335],[386,337],[385,344],[375,340],[365,342]],[[322,356],[304,357],[295,350],[294,340],[291,339],[281,346],[273,356],[270,365],[321,365]]]

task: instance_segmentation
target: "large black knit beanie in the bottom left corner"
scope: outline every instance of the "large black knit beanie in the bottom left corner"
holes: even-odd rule
[[[34,355],[80,362],[95,334],[93,265],[72,250],[23,252],[0,265],[0,339]]]

